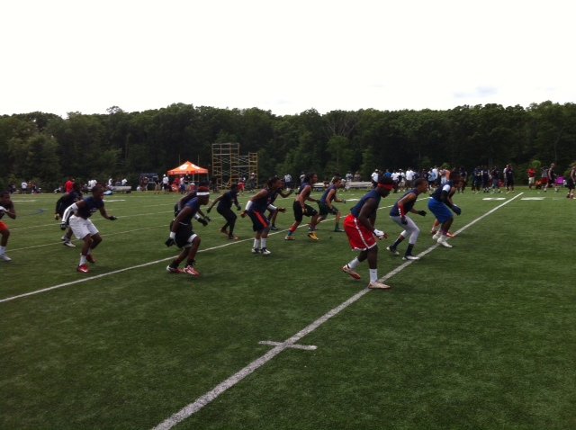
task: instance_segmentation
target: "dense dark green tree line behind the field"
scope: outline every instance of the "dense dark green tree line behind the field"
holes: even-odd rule
[[[71,175],[86,182],[164,173],[185,160],[211,168],[212,143],[258,153],[260,182],[271,175],[374,168],[504,166],[576,160],[576,104],[486,104],[446,111],[332,111],[275,115],[175,103],[144,112],[31,112],[0,117],[0,188],[23,180],[52,190]]]

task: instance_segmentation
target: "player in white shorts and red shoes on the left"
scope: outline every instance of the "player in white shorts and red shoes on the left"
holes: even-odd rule
[[[108,215],[104,209],[103,202],[104,187],[101,184],[96,184],[92,188],[92,195],[76,203],[72,203],[64,211],[62,216],[63,226],[69,225],[72,228],[72,232],[76,238],[84,241],[82,246],[82,251],[80,254],[80,264],[76,270],[82,273],[88,273],[88,266],[86,262],[94,264],[94,255],[92,251],[100,242],[102,242],[102,237],[98,228],[94,226],[94,223],[90,219],[95,211],[99,211],[100,214],[105,219],[110,219],[113,221],[116,217]]]

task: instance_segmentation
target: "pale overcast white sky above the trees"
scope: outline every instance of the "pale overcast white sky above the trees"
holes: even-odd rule
[[[18,0],[0,114],[576,101],[570,2]]]

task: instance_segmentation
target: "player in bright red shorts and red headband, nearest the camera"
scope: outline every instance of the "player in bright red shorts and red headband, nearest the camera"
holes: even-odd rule
[[[380,176],[373,190],[356,203],[350,210],[350,214],[344,220],[344,230],[346,231],[350,247],[360,254],[348,264],[342,267],[342,272],[348,273],[354,279],[360,279],[360,274],[356,273],[356,267],[365,260],[368,260],[370,282],[368,288],[388,290],[391,287],[378,280],[378,239],[387,238],[388,235],[375,228],[376,211],[383,197],[386,197],[394,189],[394,182],[390,177]]]

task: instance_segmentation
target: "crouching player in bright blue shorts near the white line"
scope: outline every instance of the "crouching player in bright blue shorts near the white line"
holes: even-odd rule
[[[454,221],[454,217],[452,216],[452,213],[448,211],[448,208],[454,211],[456,215],[462,213],[462,210],[452,202],[452,196],[456,192],[456,186],[459,182],[460,175],[458,172],[453,171],[450,174],[448,182],[446,182],[442,187],[438,187],[428,199],[428,209],[434,213],[437,220],[441,223],[440,229],[432,238],[437,240],[438,244],[447,248],[452,247],[452,245],[447,241],[447,234],[452,222]]]

